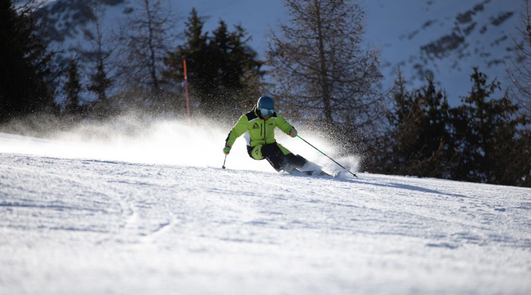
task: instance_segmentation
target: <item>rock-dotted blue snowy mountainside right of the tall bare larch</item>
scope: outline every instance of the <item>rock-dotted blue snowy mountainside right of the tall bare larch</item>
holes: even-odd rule
[[[515,58],[512,38],[523,9],[521,0],[376,0],[369,4],[367,38],[381,45],[384,84],[392,85],[398,67],[416,86],[432,76],[456,105],[472,88],[474,66],[508,85],[506,62]]]

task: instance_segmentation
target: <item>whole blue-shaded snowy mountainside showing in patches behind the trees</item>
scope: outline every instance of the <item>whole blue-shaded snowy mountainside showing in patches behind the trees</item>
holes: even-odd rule
[[[75,55],[83,46],[82,29],[93,15],[91,3],[104,4],[104,36],[117,32],[133,12],[134,0],[53,0],[39,12],[46,19],[52,48],[65,50],[61,56]],[[384,87],[390,88],[398,67],[414,86],[423,85],[429,75],[440,82],[452,105],[460,103],[471,84],[472,67],[497,78],[504,85],[506,65],[514,47],[522,0],[372,0],[358,1],[366,10],[368,44],[381,49]],[[184,21],[192,7],[205,18],[205,31],[212,31],[220,19],[228,24],[241,23],[253,39],[250,45],[265,58],[270,30],[289,15],[282,0],[168,0],[175,15],[175,32],[184,30]],[[181,19],[178,19],[178,18]],[[58,58],[61,60],[61,57]]]

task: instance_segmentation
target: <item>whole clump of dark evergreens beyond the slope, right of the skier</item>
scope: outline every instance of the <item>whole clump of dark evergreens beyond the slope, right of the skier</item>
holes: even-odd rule
[[[525,115],[500,83],[487,83],[474,68],[472,91],[450,108],[432,80],[408,91],[401,74],[393,87],[395,107],[388,132],[373,138],[363,166],[371,172],[460,181],[531,186],[531,133]]]

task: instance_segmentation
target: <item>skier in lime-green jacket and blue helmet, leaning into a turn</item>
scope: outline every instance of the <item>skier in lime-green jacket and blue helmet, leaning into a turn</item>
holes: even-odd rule
[[[247,114],[242,115],[238,123],[229,132],[225,140],[224,154],[230,153],[236,138],[245,133],[247,153],[255,160],[267,159],[277,171],[288,173],[303,172],[307,175],[327,175],[321,167],[300,155],[294,155],[286,147],[275,140],[273,129],[278,127],[282,132],[291,137],[297,136],[297,130],[275,112],[273,99],[262,96],[256,106]]]

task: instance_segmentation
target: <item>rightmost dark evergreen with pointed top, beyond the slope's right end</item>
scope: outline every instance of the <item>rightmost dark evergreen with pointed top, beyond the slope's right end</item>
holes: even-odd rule
[[[474,68],[470,95],[452,110],[456,168],[451,178],[481,183],[531,185],[529,132],[518,105],[508,97],[491,96],[500,90],[495,80]]]

